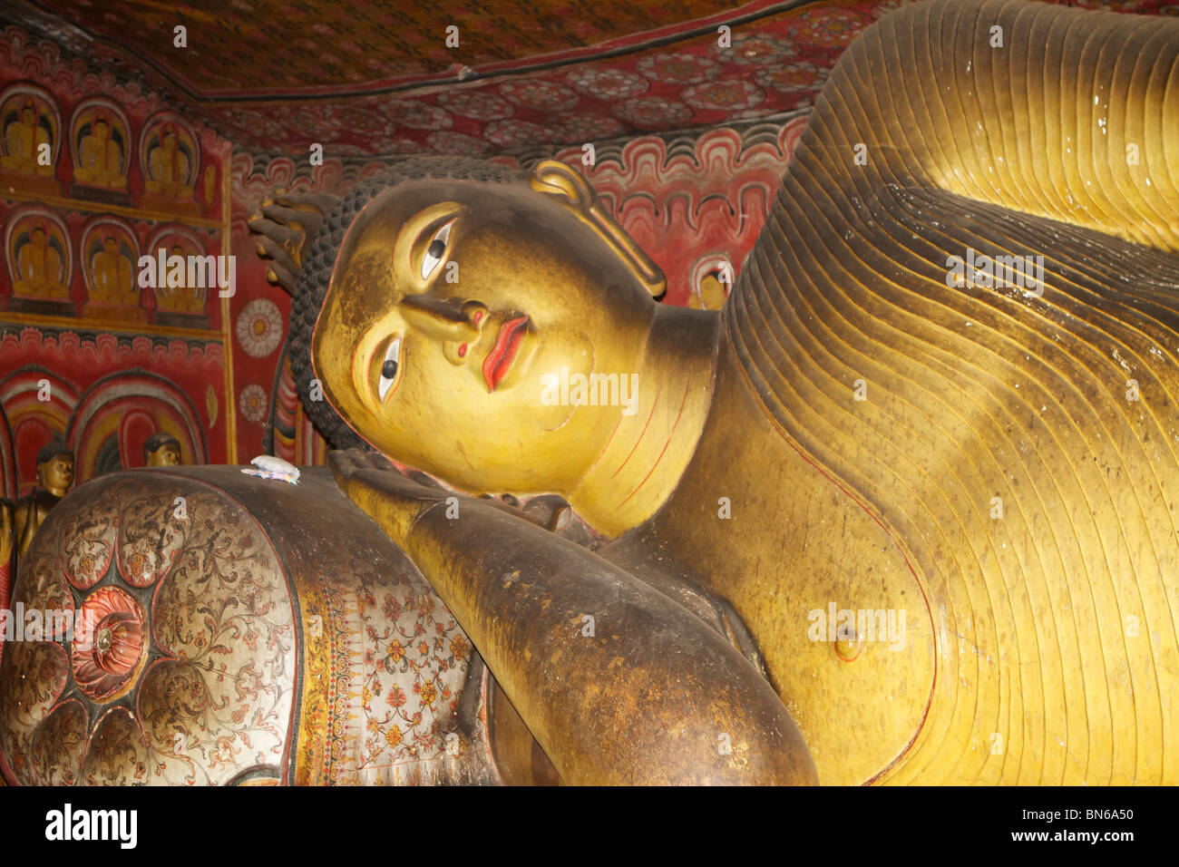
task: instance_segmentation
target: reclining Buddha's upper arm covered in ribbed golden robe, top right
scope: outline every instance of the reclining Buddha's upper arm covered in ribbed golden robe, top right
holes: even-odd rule
[[[1179,21],[907,7],[839,59],[799,156],[841,185],[935,186],[1179,250]]]

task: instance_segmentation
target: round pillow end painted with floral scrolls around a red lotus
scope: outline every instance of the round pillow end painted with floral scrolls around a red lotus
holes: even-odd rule
[[[274,547],[231,499],[138,472],[79,488],[15,591],[79,613],[72,641],[5,646],[0,748],[20,782],[217,784],[282,766],[294,611]]]

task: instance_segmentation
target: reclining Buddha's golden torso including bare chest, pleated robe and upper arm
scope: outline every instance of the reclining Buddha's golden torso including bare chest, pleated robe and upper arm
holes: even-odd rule
[[[1017,15],[1076,73],[1023,42],[977,48]],[[1179,44],[1134,21],[1099,65],[1084,50],[1102,22],[926,4],[857,40],[727,301],[693,462],[641,531],[740,612],[821,781],[871,779],[872,746],[900,754],[887,782],[1179,781],[1177,117],[1129,75],[1175,68]],[[927,31],[941,40],[905,41]],[[960,267],[983,255],[1014,272]],[[843,586],[905,609],[903,651],[819,666],[791,645]],[[849,712],[871,651],[885,695],[871,681]]]

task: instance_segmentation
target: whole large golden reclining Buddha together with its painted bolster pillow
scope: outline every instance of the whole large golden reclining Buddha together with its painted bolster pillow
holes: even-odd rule
[[[136,756],[172,761],[187,658],[255,666],[203,698],[270,725],[233,779],[364,764],[407,729],[374,711],[349,741],[331,703],[404,696],[316,662],[347,620],[360,666],[461,669],[435,734],[467,758],[440,781],[1179,782],[1177,179],[1179,21],[938,0],[842,55],[719,313],[657,303],[658,270],[559,163],[411,158],[338,202],[278,196],[255,226],[295,293],[295,379],[354,447],[334,480],[183,468],[71,494],[47,521],[67,556],[100,536],[71,499],[156,505],[108,531],[118,574],[79,554],[67,585],[46,543],[17,595],[105,590],[144,650],[107,683],[8,648],[6,774],[91,774],[114,712],[94,696],[138,689],[120,725],[154,753],[103,767],[154,781]],[[231,500],[237,547],[211,525],[183,558],[140,544],[129,527],[198,481],[189,520]],[[595,544],[502,494],[564,498]],[[182,650],[229,609],[249,618],[224,652]]]

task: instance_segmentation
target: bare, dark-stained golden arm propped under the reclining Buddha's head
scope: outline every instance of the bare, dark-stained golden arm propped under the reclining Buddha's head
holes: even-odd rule
[[[334,452],[331,465],[462,624],[565,782],[815,782],[769,682],[683,606],[382,458]]]

